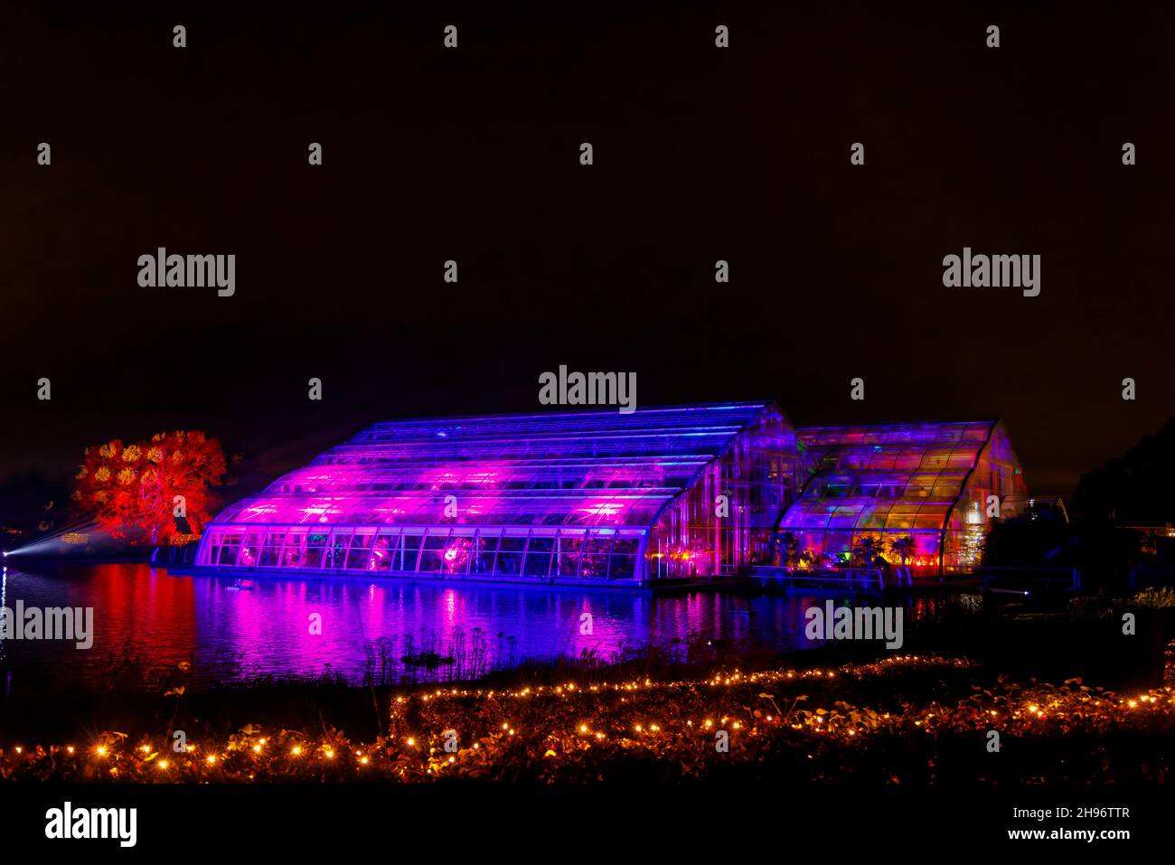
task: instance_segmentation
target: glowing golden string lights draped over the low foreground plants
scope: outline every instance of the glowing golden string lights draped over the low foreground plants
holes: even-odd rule
[[[888,693],[893,682],[882,677],[915,673],[919,670],[973,666],[961,658],[944,659],[897,656],[871,664],[847,664],[835,670],[724,671],[696,680],[653,682],[650,678],[611,683],[563,683],[558,686],[528,686],[518,690],[458,689],[435,686],[416,695],[397,695],[388,702],[390,715],[385,737],[374,742],[349,742],[341,732],[310,739],[306,733],[282,731],[275,735],[256,725],[246,727],[226,742],[210,740],[202,760],[156,759],[148,743],[120,752],[113,744],[121,733],[101,733],[88,749],[62,745],[16,745],[5,750],[0,743],[0,775],[46,777],[69,772],[72,777],[114,778],[127,782],[174,780],[323,780],[337,778],[327,764],[335,751],[345,749],[364,777],[419,782],[438,777],[484,778],[486,771],[517,769],[533,771],[544,779],[595,778],[615,759],[644,752],[665,763],[676,763],[685,773],[701,773],[717,757],[703,758],[713,747],[713,730],[738,732],[724,760],[757,762],[772,758],[778,743],[808,744],[815,772],[827,759],[839,759],[831,749],[867,746],[877,736],[938,733],[972,735],[993,726],[1022,736],[1056,736],[1069,731],[1113,731],[1123,724],[1140,730],[1166,730],[1175,719],[1175,690],[1155,689],[1120,696],[1096,688],[1068,683],[1062,686],[1010,682],[956,703],[939,697],[929,705],[905,705],[897,712],[877,712],[854,703],[854,693]],[[837,684],[830,679],[837,679]],[[870,685],[868,682],[878,679]],[[900,685],[897,686],[900,691]],[[492,693],[492,696],[490,696]],[[439,695],[439,696],[438,696]],[[518,702],[525,698],[525,702]],[[783,711],[760,715],[757,705]],[[506,710],[506,711],[503,711]],[[484,718],[495,720],[489,725]],[[649,720],[651,713],[656,720]],[[570,723],[569,723],[570,716]],[[463,730],[471,736],[457,753],[431,746],[432,739],[418,742],[409,735],[412,726],[438,731]],[[1047,724],[1045,723],[1047,719]],[[1142,726],[1147,725],[1147,726]],[[625,731],[634,731],[625,733]],[[817,743],[813,746],[811,743]],[[273,744],[274,747],[268,746]],[[422,746],[423,745],[423,746]],[[287,760],[313,747],[325,762]],[[194,751],[195,746],[188,746]],[[27,755],[26,755],[27,751]],[[217,762],[214,751],[224,760]],[[234,753],[246,751],[249,759],[234,762]],[[804,751],[800,751],[804,753]],[[22,756],[24,755],[24,756]],[[387,756],[382,759],[382,756]],[[36,773],[33,776],[33,773]],[[606,776],[605,776],[606,777]]]

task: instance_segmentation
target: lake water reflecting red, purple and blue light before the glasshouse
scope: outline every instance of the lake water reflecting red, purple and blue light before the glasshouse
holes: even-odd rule
[[[817,645],[804,637],[804,610],[827,597],[652,597],[363,577],[237,582],[172,576],[146,564],[62,565],[38,574],[9,568],[4,595],[8,608],[16,599],[26,608],[94,608],[94,645],[88,651],[72,642],[0,643],[0,664],[18,677],[35,668],[39,676],[80,678],[92,686],[128,657],[141,658],[153,680],[181,662],[195,661],[197,678],[206,682],[324,671],[358,682],[368,648],[380,638],[390,641],[397,661],[422,650],[444,659],[456,646],[466,670],[482,664],[483,672],[584,651],[607,658],[625,645],[665,645],[691,635],[726,641],[736,650],[803,649]],[[591,633],[582,632],[585,612],[592,617]],[[310,632],[313,613],[321,616],[321,635]],[[421,679],[450,675],[444,664],[412,670]]]

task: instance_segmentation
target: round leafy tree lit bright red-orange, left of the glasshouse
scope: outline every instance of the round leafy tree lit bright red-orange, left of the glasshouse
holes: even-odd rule
[[[212,488],[224,472],[220,442],[200,431],[159,432],[133,444],[116,438],[86,448],[73,498],[115,538],[184,543],[212,518]]]

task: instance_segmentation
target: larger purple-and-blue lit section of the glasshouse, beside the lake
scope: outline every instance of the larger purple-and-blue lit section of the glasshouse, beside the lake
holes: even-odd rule
[[[377,423],[220,514],[196,565],[642,586],[770,561],[803,481],[773,403]]]

